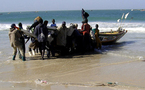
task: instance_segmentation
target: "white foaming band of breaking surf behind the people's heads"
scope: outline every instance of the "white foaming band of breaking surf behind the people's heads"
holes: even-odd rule
[[[67,22],[67,26],[70,26],[71,22]],[[78,28],[81,28],[82,23],[77,23]],[[92,28],[95,28],[95,25],[99,25],[100,31],[115,31],[120,26],[127,30],[129,33],[145,33],[145,24],[144,23],[115,23],[115,22],[89,22]],[[23,24],[23,28],[26,29],[27,26],[31,24]],[[49,26],[50,24],[48,24]],[[57,23],[57,26],[60,26],[61,23]],[[0,24],[0,31],[9,30],[11,24]]]

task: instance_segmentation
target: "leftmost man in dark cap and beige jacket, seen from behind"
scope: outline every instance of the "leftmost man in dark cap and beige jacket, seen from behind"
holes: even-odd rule
[[[22,60],[25,61],[25,50],[23,46],[23,32],[16,29],[16,25],[12,24],[10,31],[9,31],[9,39],[11,47],[13,47],[13,58],[12,60],[15,60],[16,54],[17,54],[17,48],[20,50],[20,53],[22,55]]]

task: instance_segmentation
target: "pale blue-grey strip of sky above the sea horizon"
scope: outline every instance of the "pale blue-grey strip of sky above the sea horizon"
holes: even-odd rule
[[[0,0],[0,12],[145,9],[145,0]]]

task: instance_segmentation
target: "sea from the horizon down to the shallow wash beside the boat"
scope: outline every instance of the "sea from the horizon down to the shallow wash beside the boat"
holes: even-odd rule
[[[130,57],[134,59],[145,58],[145,12],[131,10],[86,10],[89,13],[89,24],[92,28],[95,24],[99,24],[100,31],[117,30],[122,26],[128,32],[127,34],[113,45],[105,45],[103,53]],[[122,14],[129,12],[127,19],[120,20]],[[21,22],[23,28],[31,25],[34,18],[41,16],[43,20],[48,20],[48,25],[51,20],[55,19],[57,26],[60,26],[63,21],[66,21],[67,26],[70,23],[77,23],[78,28],[82,25],[81,10],[74,11],[37,11],[37,12],[1,12],[0,14],[0,62],[11,60],[12,48],[9,43],[8,32],[10,25],[16,25]],[[28,49],[28,47],[26,47]]]

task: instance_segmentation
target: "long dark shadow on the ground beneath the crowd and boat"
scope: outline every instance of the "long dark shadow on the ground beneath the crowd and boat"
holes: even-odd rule
[[[51,59],[58,59],[58,58],[61,58],[61,59],[85,58],[85,57],[89,57],[89,55],[93,55],[93,54],[103,54],[107,51],[119,50],[119,49],[121,49],[121,47],[127,46],[127,45],[132,44],[132,43],[135,43],[135,41],[124,41],[124,42],[116,42],[116,43],[109,44],[109,45],[102,45],[101,49],[94,49],[92,51],[87,51],[83,54],[76,53],[76,52],[69,53],[69,54],[63,55],[63,56],[56,54],[55,57],[50,57],[50,58],[47,58],[45,55],[44,60],[51,60]],[[27,55],[27,56],[28,56],[27,61],[29,61],[29,60],[42,60],[40,54],[36,54],[35,56],[31,56],[31,57],[29,55]]]

